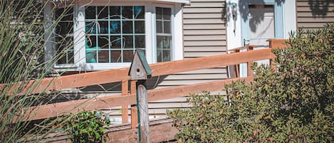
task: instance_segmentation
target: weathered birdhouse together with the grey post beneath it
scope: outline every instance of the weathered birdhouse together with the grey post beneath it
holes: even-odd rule
[[[129,70],[131,80],[137,80],[137,114],[139,142],[150,143],[150,127],[146,80],[151,77],[152,70],[143,51],[138,50],[132,59]]]

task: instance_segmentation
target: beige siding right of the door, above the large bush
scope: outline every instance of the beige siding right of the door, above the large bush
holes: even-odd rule
[[[334,1],[297,0],[297,27],[322,28],[325,23],[334,22]]]

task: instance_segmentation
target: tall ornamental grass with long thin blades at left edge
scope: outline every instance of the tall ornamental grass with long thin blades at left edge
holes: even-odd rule
[[[49,93],[31,92],[64,53],[60,51],[52,59],[42,60],[44,41],[51,38],[46,33],[59,21],[44,28],[45,6],[46,3],[35,0],[0,1],[0,142],[27,142],[45,137],[53,131],[53,124],[62,120],[24,122],[24,117],[33,117],[35,113],[28,107],[49,102],[46,100]],[[35,82],[28,85],[30,80]]]

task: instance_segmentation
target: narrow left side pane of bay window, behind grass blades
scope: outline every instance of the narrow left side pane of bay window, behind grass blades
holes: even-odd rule
[[[61,18],[61,19],[58,19]],[[56,26],[57,53],[63,53],[58,59],[58,64],[74,63],[73,49],[73,8],[57,9],[56,20],[60,20]]]

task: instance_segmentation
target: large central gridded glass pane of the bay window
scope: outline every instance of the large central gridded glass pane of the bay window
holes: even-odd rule
[[[130,63],[145,51],[145,6],[86,6],[86,63]]]

